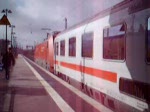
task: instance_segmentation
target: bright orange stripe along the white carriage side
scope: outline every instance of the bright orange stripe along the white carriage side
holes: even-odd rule
[[[109,71],[104,71],[104,70],[99,70],[95,68],[90,68],[90,67],[84,67],[80,65],[75,65],[75,64],[70,64],[70,63],[65,63],[65,62],[60,62],[60,65],[66,68],[70,68],[76,71],[80,71],[98,78],[102,78],[114,83],[117,83],[117,73],[114,72],[109,72]]]

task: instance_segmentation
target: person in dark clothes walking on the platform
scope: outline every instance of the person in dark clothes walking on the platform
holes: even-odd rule
[[[11,66],[15,65],[15,57],[12,53],[12,49],[9,48],[8,51],[3,55],[2,59],[3,68],[5,69],[5,77],[8,80],[9,74],[10,74],[10,68]]]

